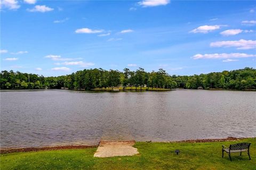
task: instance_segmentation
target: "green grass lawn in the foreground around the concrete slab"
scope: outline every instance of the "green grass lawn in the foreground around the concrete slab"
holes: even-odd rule
[[[252,160],[245,152],[221,158],[221,145],[251,142]],[[137,142],[135,156],[94,158],[97,148],[2,154],[0,169],[256,169],[256,138],[207,143]],[[174,150],[180,149],[175,155]]]

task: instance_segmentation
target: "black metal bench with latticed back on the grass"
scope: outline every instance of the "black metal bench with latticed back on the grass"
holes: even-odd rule
[[[232,161],[230,153],[240,152],[240,156],[241,156],[242,152],[247,152],[249,156],[249,160],[251,160],[250,152],[249,152],[250,145],[251,143],[237,143],[237,144],[230,144],[229,148],[225,147],[225,145],[222,145],[222,158],[223,158],[224,152],[228,153],[230,161]]]

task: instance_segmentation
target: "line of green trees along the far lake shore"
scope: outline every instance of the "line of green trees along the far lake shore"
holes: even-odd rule
[[[139,68],[131,71],[125,68],[118,70],[84,69],[70,75],[44,77],[22,72],[1,71],[1,89],[41,89],[68,88],[70,90],[91,90],[121,85],[124,90],[133,86],[138,90],[148,88],[188,88],[203,87],[223,88],[230,90],[256,89],[256,69],[244,68],[233,71],[211,72],[193,76],[169,75],[165,70],[146,72]]]

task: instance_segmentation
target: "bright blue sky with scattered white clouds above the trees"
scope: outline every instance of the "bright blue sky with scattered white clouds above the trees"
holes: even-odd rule
[[[1,70],[255,68],[255,26],[253,1],[1,0]]]

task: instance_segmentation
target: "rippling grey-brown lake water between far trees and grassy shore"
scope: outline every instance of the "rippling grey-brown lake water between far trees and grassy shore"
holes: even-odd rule
[[[1,92],[1,148],[256,136],[256,93]]]

